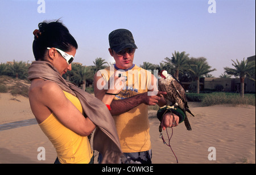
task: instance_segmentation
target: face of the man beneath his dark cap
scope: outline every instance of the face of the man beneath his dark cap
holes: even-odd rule
[[[126,48],[118,53],[109,48],[109,53],[112,57],[114,57],[115,66],[117,66],[119,69],[128,69],[133,65],[135,48]]]

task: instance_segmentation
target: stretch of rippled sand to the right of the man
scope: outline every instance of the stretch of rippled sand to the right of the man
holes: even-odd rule
[[[189,117],[192,131],[180,123],[171,139],[179,163],[255,163],[255,106],[214,105],[191,110],[196,116]],[[170,148],[158,142],[157,123],[157,119],[151,119],[153,161],[176,163]],[[216,149],[216,160],[208,159],[212,153],[209,147]]]

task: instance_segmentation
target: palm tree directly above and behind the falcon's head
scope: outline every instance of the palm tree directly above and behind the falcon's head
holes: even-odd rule
[[[179,53],[175,52],[172,53],[172,58],[164,58],[166,59],[166,63],[171,63],[174,66],[174,76],[176,79],[179,79],[179,71],[183,71],[188,69],[188,60],[189,54],[186,54],[185,51]]]

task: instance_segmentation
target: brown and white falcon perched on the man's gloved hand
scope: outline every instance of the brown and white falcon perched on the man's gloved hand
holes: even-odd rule
[[[193,117],[194,115],[188,109],[188,101],[185,95],[185,89],[183,88],[179,80],[177,80],[171,74],[168,74],[166,70],[162,70],[159,72],[158,89],[159,91],[167,92],[167,95],[163,95],[167,105],[174,105],[180,107],[180,109],[185,114],[185,126],[187,127],[187,130],[191,130],[191,126],[185,112],[190,113]]]

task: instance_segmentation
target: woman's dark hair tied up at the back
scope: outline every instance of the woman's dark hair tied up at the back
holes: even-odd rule
[[[59,20],[55,22],[43,21],[38,24],[39,30],[34,31],[33,53],[35,60],[44,60],[47,48],[57,48],[68,52],[78,48],[74,37],[69,33],[68,28]]]

